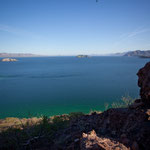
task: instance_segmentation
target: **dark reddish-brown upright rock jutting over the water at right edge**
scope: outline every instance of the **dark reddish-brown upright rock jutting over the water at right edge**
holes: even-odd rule
[[[150,62],[141,68],[137,75],[141,99],[144,103],[150,104]]]

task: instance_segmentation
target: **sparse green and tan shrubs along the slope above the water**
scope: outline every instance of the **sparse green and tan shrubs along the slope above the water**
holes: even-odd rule
[[[105,110],[108,108],[128,107],[134,101],[130,96],[122,97],[121,101],[113,102],[111,105],[105,103]],[[90,114],[100,113],[91,111]],[[0,149],[21,149],[31,148],[37,141],[44,143],[53,142],[57,131],[67,128],[71,120],[83,116],[82,112],[40,118],[6,118],[0,122]]]

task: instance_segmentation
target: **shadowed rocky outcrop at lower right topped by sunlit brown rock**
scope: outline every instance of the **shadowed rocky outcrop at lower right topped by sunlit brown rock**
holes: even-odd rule
[[[70,123],[54,139],[55,148],[72,150],[148,150],[150,149],[149,112],[118,108],[84,115]],[[63,146],[58,143],[63,141]]]

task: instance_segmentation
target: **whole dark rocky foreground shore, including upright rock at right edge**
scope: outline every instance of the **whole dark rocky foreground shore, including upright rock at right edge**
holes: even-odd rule
[[[0,149],[149,150],[150,62],[137,75],[141,98],[129,107],[45,117],[35,123],[30,119],[18,132],[7,129],[0,133]],[[29,136],[24,137],[26,132]],[[11,139],[5,137],[6,133],[15,139],[16,145],[10,144],[8,148]]]

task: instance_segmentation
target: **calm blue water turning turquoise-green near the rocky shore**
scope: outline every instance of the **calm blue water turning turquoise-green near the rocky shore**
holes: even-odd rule
[[[138,97],[136,73],[149,59],[39,57],[0,62],[0,118],[104,110]]]

